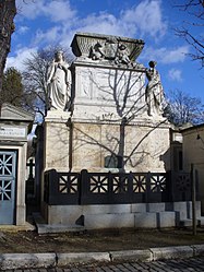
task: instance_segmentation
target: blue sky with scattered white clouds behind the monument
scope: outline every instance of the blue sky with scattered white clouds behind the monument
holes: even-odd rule
[[[179,88],[204,104],[201,64],[187,56],[192,48],[173,32],[183,21],[192,20],[172,7],[183,1],[16,0],[15,33],[7,67],[23,70],[23,60],[31,52],[50,45],[70,48],[76,32],[141,38],[145,47],[137,60],[145,67],[149,60],[157,61],[165,92]]]

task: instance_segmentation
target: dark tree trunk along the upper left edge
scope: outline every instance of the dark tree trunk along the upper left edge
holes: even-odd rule
[[[3,69],[10,52],[11,35],[14,32],[13,19],[16,14],[15,0],[0,1],[0,92],[2,90]]]

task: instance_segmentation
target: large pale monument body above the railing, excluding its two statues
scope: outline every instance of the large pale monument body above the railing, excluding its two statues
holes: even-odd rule
[[[48,111],[45,170],[170,168],[170,126],[161,111],[148,115],[147,69],[136,61],[143,46],[140,39],[84,33],[74,36],[71,108]]]

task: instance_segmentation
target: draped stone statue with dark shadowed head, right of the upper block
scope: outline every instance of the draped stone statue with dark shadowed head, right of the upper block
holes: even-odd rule
[[[156,61],[148,62],[149,69],[146,70],[148,84],[145,90],[145,100],[147,104],[148,116],[163,114],[164,91],[160,83],[160,75],[156,70]]]

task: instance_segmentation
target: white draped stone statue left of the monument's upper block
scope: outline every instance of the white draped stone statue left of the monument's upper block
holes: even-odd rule
[[[50,109],[69,110],[71,104],[71,71],[64,61],[63,52],[57,51],[48,69],[48,97]]]

